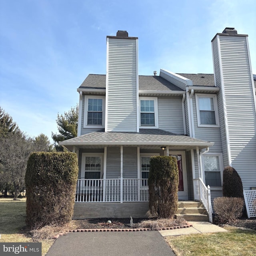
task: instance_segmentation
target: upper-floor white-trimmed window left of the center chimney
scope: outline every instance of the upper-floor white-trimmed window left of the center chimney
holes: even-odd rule
[[[104,97],[84,97],[84,128],[102,128],[104,126]]]

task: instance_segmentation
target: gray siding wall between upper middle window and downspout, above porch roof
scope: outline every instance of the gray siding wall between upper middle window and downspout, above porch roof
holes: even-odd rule
[[[158,97],[159,129],[184,134],[181,97]]]

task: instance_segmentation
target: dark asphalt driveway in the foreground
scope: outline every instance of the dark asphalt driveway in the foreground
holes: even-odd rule
[[[174,256],[158,231],[76,232],[61,236],[46,256]]]

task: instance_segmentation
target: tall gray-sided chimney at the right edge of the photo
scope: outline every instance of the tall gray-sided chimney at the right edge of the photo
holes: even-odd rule
[[[256,99],[248,35],[225,28],[212,39],[214,78],[224,166],[234,167],[244,189],[256,184]]]

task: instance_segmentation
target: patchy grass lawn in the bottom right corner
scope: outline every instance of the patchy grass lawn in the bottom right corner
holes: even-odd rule
[[[254,256],[256,230],[226,228],[229,232],[169,236],[177,256]]]

